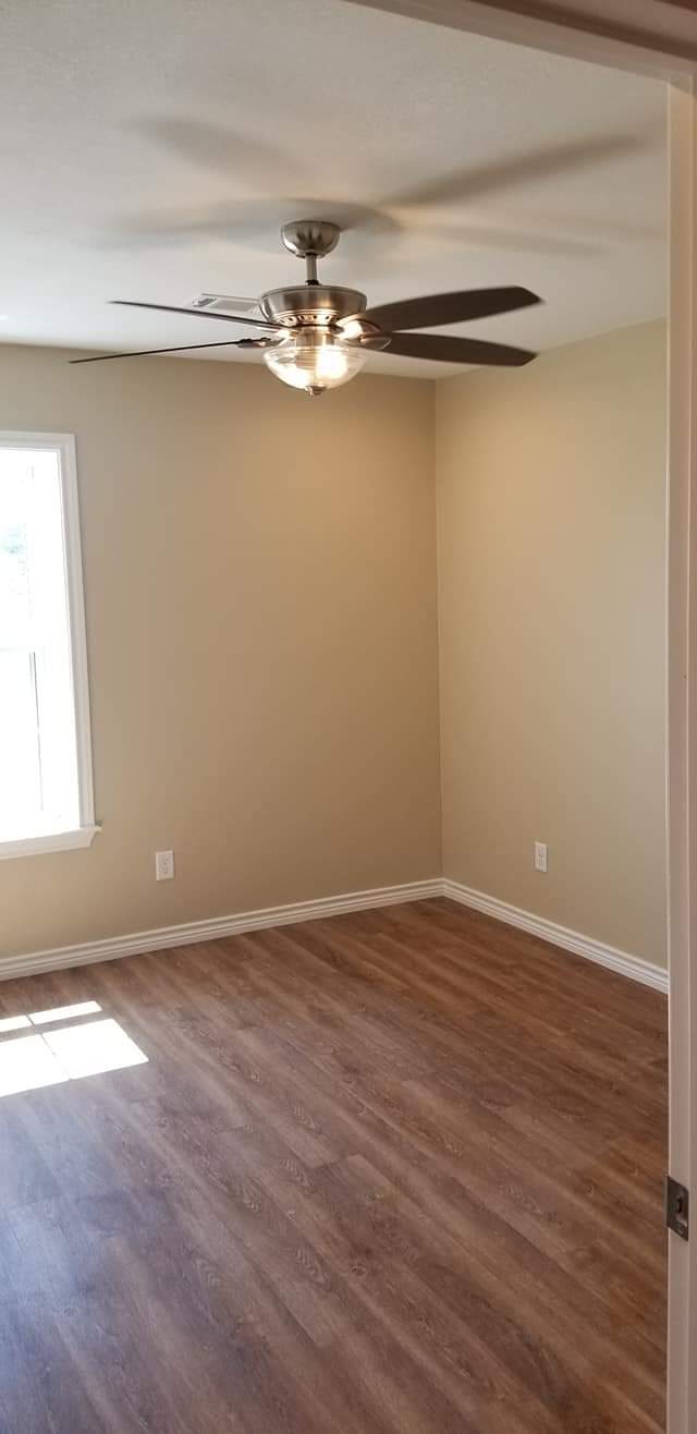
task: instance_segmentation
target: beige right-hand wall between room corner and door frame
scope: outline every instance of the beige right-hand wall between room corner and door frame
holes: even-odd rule
[[[647,324],[436,406],[445,873],[658,964],[664,390]]]

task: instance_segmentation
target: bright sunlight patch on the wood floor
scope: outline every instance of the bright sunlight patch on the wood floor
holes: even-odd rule
[[[79,1005],[36,1011],[33,1015],[3,1017],[0,1035],[10,1038],[0,1041],[0,1097],[146,1064],[148,1057],[118,1021],[110,1017],[100,1017],[96,1021],[77,1020],[100,1010],[96,1001],[83,1001]],[[57,1030],[52,1025],[42,1032],[32,1031],[34,1025],[57,1021],[75,1021],[75,1024]],[[11,1034],[24,1030],[32,1034]]]

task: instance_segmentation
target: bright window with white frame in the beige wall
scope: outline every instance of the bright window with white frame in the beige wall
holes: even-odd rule
[[[0,858],[95,832],[75,440],[0,433]]]

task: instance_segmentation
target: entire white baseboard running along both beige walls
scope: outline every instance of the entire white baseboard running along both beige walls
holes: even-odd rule
[[[19,956],[0,956],[0,981],[13,977],[37,975],[42,971],[60,971],[66,967],[82,967],[92,961],[115,961],[118,956],[136,956],[143,951],[163,951],[171,946],[194,945],[198,941],[217,941],[244,931],[262,931],[265,926],[288,926],[298,921],[317,921],[321,916],[338,916],[347,911],[369,911],[371,906],[393,906],[399,902],[425,901],[429,896],[449,896],[462,906],[472,906],[486,916],[505,921],[509,926],[528,931],[532,936],[549,941],[554,946],[572,951],[577,956],[595,961],[610,971],[618,971],[631,981],[641,981],[655,991],[668,989],[668,972],[651,965],[627,951],[605,946],[592,936],[558,926],[544,916],[509,906],[496,896],[472,891],[447,878],[435,876],[423,882],[404,882],[400,886],[374,886],[364,892],[347,892],[343,896],[321,896],[317,901],[291,902],[288,906],[264,906],[261,911],[244,911],[235,916],[212,916],[208,921],[188,921],[179,926],[158,926],[155,931],[138,931],[129,936],[108,936],[105,941],[86,941],[79,946],[56,946],[53,951],[32,951]]]

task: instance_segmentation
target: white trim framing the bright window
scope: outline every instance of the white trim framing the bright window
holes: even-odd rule
[[[47,449],[60,455],[63,555],[70,624],[70,675],[75,704],[77,750],[77,789],[80,825],[69,832],[46,832],[0,842],[0,860],[14,856],[40,856],[90,846],[100,830],[95,822],[92,779],[92,723],[89,711],[87,634],[85,628],[85,589],[82,581],[80,508],[77,499],[77,462],[72,433],[14,433],[0,430],[7,447]]]

